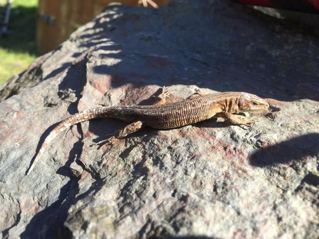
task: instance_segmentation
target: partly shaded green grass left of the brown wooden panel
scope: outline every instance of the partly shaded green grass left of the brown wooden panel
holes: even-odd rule
[[[2,3],[3,0],[0,0]],[[13,0],[9,29],[0,37],[0,83],[25,70],[37,55],[35,25],[38,0]]]

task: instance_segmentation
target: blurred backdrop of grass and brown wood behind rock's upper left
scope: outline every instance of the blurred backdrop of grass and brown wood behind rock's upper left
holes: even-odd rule
[[[8,27],[0,35],[0,83],[54,50],[111,2],[156,8],[170,0],[0,0],[0,29],[10,8]]]

